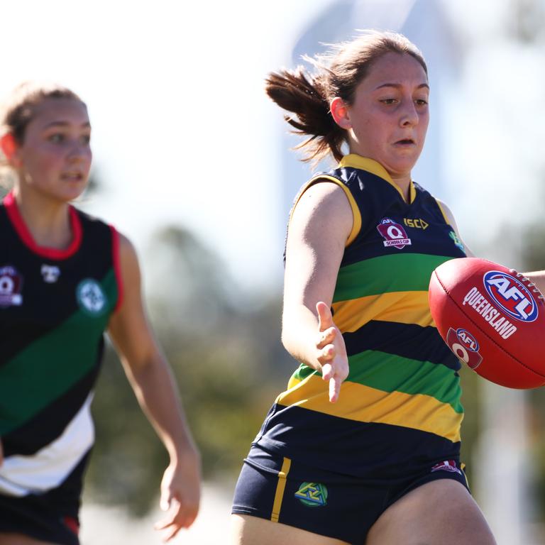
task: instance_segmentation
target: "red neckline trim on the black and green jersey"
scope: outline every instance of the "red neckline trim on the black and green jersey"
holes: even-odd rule
[[[34,253],[41,255],[43,258],[48,259],[67,259],[70,256],[74,255],[79,245],[82,242],[82,224],[79,221],[79,216],[74,207],[70,207],[70,226],[72,227],[72,242],[68,248],[60,250],[59,248],[48,248],[47,246],[38,246],[36,244],[31,231],[28,231],[28,227],[21,216],[21,212],[17,206],[15,197],[13,197],[13,192],[9,192],[6,197],[4,197],[4,207],[6,207],[6,212],[8,217],[13,224],[13,229],[15,229],[21,241],[28,246],[28,248]]]

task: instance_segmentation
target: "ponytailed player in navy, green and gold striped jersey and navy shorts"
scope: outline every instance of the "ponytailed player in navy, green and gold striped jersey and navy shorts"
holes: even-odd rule
[[[243,465],[233,544],[494,545],[459,459],[460,362],[427,301],[431,272],[466,248],[411,177],[426,63],[372,31],[307,60],[314,74],[272,73],[267,92],[306,159],[338,165],[290,216],[282,342],[301,365]]]

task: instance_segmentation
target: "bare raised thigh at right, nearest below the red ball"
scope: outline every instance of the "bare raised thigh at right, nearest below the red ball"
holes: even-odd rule
[[[496,545],[483,513],[456,480],[426,483],[404,495],[371,527],[365,545]]]

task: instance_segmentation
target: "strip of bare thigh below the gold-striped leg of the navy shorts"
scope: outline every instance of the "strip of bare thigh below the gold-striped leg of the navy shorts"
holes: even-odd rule
[[[246,514],[233,514],[231,545],[347,545],[347,542],[280,522],[250,517]]]

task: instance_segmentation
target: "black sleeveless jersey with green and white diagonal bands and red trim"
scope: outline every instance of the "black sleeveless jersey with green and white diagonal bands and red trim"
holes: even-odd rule
[[[73,207],[70,221],[70,247],[43,248],[12,194],[0,206],[4,495],[79,488],[94,441],[89,406],[104,329],[120,300],[118,235]]]

